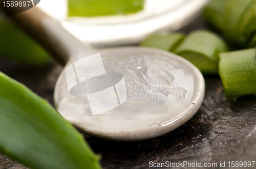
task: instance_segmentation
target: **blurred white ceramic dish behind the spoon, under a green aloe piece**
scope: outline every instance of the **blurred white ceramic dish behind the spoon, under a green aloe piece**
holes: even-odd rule
[[[145,0],[137,14],[92,18],[68,18],[67,0],[44,0],[37,6],[85,45],[105,47],[137,44],[153,32],[176,31],[193,21],[207,2]]]

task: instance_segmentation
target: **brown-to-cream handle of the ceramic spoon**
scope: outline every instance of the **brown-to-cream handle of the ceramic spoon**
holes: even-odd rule
[[[0,3],[0,9],[4,10],[2,3]],[[10,18],[62,65],[65,65],[72,55],[86,50],[78,39],[37,7],[10,16]]]

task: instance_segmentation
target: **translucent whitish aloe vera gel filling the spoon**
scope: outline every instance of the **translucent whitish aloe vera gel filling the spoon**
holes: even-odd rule
[[[194,77],[172,60],[127,55],[102,57],[106,72],[124,77],[127,99],[107,112],[93,116],[87,98],[72,96],[63,85],[60,114],[69,121],[79,121],[95,130],[122,132],[160,124],[178,116],[193,96]],[[94,102],[94,108],[100,108]],[[100,104],[99,104],[100,105]]]

